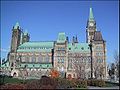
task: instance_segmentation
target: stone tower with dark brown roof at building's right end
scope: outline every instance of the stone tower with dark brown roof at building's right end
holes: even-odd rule
[[[100,31],[95,31],[94,37],[92,40],[93,45],[93,68],[95,77],[106,79],[107,70],[106,70],[106,41],[102,37]],[[98,73],[99,71],[99,73]]]

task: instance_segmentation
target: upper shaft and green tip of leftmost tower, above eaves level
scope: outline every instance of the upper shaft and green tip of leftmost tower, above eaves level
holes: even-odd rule
[[[20,45],[21,30],[19,23],[17,22],[12,29],[12,40],[11,40],[11,52],[16,52],[17,47]]]

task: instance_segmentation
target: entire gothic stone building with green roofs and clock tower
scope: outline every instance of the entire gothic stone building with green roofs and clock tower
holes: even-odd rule
[[[96,29],[92,8],[85,43],[79,43],[77,37],[69,42],[64,32],[58,34],[56,41],[29,40],[30,35],[22,32],[16,23],[12,29],[11,49],[8,54],[11,75],[20,77],[24,72],[24,76],[40,78],[41,75],[49,75],[54,68],[63,77],[90,78],[92,56],[93,78],[106,78],[106,42]]]

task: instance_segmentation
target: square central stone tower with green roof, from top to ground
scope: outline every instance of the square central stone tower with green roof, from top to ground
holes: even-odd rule
[[[59,33],[54,46],[54,68],[60,72],[62,77],[67,72],[67,43],[65,33]]]

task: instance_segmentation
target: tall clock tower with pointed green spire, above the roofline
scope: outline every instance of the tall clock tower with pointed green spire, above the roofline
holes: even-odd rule
[[[86,42],[90,43],[96,31],[96,21],[94,20],[92,8],[90,8],[89,19],[86,26]]]

